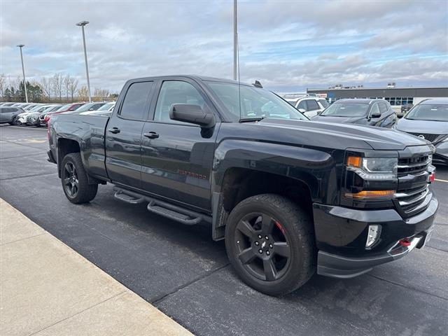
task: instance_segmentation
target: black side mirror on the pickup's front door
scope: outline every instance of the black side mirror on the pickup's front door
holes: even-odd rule
[[[169,109],[169,118],[200,125],[202,128],[212,128],[216,124],[215,115],[211,111],[203,110],[199,105],[172,104]]]

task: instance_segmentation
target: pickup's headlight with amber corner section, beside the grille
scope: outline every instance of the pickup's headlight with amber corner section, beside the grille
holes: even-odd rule
[[[360,158],[349,156],[347,169],[365,180],[384,180],[397,178],[397,158]]]

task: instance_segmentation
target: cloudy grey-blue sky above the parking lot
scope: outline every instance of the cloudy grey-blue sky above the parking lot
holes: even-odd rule
[[[1,73],[91,86],[195,73],[231,78],[233,1],[0,1]],[[448,1],[239,1],[241,81],[272,90],[448,85]]]

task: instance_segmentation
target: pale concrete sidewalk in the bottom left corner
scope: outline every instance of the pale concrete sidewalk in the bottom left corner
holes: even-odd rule
[[[192,335],[0,199],[0,335]]]

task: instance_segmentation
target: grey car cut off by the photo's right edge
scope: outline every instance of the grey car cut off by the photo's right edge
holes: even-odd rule
[[[430,141],[435,146],[433,162],[448,165],[448,98],[423,100],[395,128]]]

